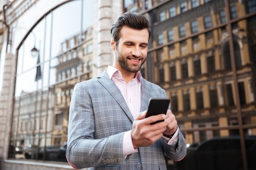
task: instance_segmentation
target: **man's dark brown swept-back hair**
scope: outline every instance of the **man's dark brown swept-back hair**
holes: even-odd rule
[[[146,17],[139,13],[126,12],[121,15],[118,20],[113,24],[111,29],[111,35],[114,42],[117,44],[120,39],[120,30],[123,26],[127,26],[132,29],[148,29],[148,39],[150,38],[150,24]]]

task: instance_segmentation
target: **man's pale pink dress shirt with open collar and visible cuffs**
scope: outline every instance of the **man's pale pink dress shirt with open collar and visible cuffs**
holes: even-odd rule
[[[107,73],[109,75],[109,78],[115,82],[115,84],[121,91],[130,109],[130,112],[132,113],[132,116],[134,118],[137,117],[141,105],[141,73],[137,72],[135,78],[127,83],[126,80],[122,77],[121,72],[117,68],[108,66]],[[163,136],[164,141],[166,141],[169,145],[176,144],[178,131],[179,128],[171,139]],[[127,156],[135,152],[138,152],[138,150],[133,148],[131,131],[127,131],[124,133],[123,138],[123,154]]]

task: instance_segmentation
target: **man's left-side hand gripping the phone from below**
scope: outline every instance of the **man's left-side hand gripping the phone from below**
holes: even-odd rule
[[[168,110],[168,111],[171,112],[171,110]],[[135,118],[132,124],[131,137],[132,137],[133,147],[137,149],[141,146],[142,147],[150,146],[162,137],[163,132],[166,132],[165,133],[166,135],[168,135],[170,132],[173,132],[173,130],[170,129],[171,127],[173,127],[173,123],[172,123],[173,118],[171,118],[170,115],[172,115],[172,113],[168,113],[168,115],[159,114],[159,115],[150,116],[144,119],[146,116],[146,111],[141,112],[139,116]],[[150,125],[155,121],[164,120],[164,119],[167,119],[167,120],[159,122],[157,124]],[[175,120],[175,117],[174,117],[174,120]],[[176,121],[176,125],[177,125],[177,121]],[[176,129],[177,129],[177,126],[176,126]]]

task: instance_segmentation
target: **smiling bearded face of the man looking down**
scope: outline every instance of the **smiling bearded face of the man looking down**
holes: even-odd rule
[[[137,73],[146,61],[148,51],[148,30],[124,26],[120,30],[118,45],[111,40],[115,51],[114,67],[122,72]]]

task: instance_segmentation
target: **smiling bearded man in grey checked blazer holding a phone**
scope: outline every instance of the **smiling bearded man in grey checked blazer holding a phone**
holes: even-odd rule
[[[111,30],[113,66],[76,84],[66,152],[73,168],[166,170],[164,153],[175,161],[186,155],[186,142],[171,110],[145,118],[151,98],[167,97],[139,73],[147,57],[149,27],[143,15],[121,15]],[[150,125],[158,120],[164,121]]]

